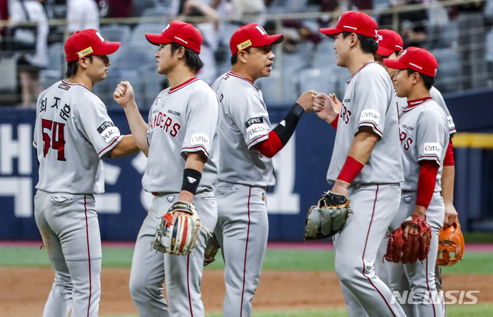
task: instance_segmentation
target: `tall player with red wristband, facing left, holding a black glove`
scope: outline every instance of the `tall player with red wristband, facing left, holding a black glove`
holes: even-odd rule
[[[378,246],[401,197],[403,168],[399,123],[392,81],[375,63],[377,23],[363,12],[344,12],[336,27],[320,29],[334,38],[336,63],[349,68],[340,112],[333,98],[318,94],[314,110],[337,129],[327,181],[332,192],[351,200],[353,214],[334,238],[336,273],[369,316],[405,316],[377,275]],[[343,292],[346,302],[350,299]],[[357,316],[351,312],[349,316]]]

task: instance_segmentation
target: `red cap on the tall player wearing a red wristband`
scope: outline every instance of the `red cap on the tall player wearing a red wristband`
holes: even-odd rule
[[[361,11],[346,11],[340,16],[336,27],[320,29],[320,32],[329,38],[335,38],[342,32],[351,32],[378,39],[377,30],[377,22],[368,14]]]

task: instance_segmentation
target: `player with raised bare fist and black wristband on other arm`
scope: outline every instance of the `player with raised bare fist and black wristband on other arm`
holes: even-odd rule
[[[154,195],[136,241],[130,294],[141,317],[203,317],[200,286],[206,231],[201,230],[198,245],[188,255],[159,253],[151,244],[161,218],[176,201],[193,203],[202,226],[214,230],[217,206],[212,185],[217,173],[213,138],[218,101],[214,91],[195,77],[203,66],[199,58],[203,38],[197,29],[172,21],[162,34],[145,36],[159,47],[157,73],[168,77],[170,88],[157,95],[148,123],[140,115],[128,81],[114,91],[138,147],[148,157],[142,187]],[[162,294],[164,281],[168,303]]]

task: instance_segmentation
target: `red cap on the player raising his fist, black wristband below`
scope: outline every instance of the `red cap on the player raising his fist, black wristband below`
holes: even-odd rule
[[[162,34],[146,34],[146,38],[153,45],[178,43],[200,54],[203,42],[202,34],[190,23],[171,21],[162,31]]]

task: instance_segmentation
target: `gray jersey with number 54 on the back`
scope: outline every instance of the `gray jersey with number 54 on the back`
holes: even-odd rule
[[[103,101],[82,84],[58,81],[38,97],[33,144],[36,188],[46,192],[104,192],[100,158],[121,140]]]

